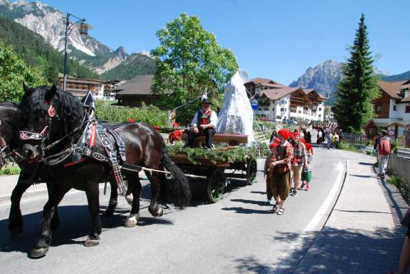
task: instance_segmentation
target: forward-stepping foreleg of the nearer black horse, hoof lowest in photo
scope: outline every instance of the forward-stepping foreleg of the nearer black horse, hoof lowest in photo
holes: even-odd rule
[[[51,220],[53,219],[53,215],[55,214],[58,203],[62,200],[64,195],[69,191],[71,188],[62,187],[58,185],[54,185],[50,188],[50,196],[49,200],[44,206],[43,210],[43,222],[41,224],[40,236],[38,237],[38,241],[36,243],[36,247],[30,253],[32,258],[40,258],[45,256],[47,251],[49,251],[49,245],[51,242]]]

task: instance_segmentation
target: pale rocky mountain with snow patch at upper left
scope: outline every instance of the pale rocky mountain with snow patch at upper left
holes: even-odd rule
[[[0,0],[0,15],[10,18],[43,36],[54,49],[64,50],[66,17],[60,10],[56,10],[40,1],[19,0],[10,2]],[[130,56],[123,47],[119,47],[114,51],[92,36],[80,35],[77,28],[73,29],[69,36],[68,49],[70,58],[88,66],[97,74],[106,73],[110,69],[119,66]],[[153,60],[152,64],[154,64]]]

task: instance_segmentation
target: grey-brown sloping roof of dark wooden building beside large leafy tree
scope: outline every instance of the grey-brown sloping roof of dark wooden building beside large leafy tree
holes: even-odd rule
[[[115,90],[117,95],[152,95],[151,86],[154,75],[138,75],[127,81]]]

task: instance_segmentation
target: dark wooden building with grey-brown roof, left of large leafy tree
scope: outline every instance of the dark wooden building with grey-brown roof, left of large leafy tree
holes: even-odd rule
[[[117,86],[116,98],[119,105],[139,107],[142,103],[151,105],[156,103],[160,95],[152,93],[152,80],[154,75],[138,75],[129,81]]]

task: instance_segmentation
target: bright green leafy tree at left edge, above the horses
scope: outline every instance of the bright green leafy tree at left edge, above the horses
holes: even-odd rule
[[[0,43],[0,101],[19,102],[23,97],[23,83],[27,86],[47,84],[36,68],[17,57],[11,47]]]

